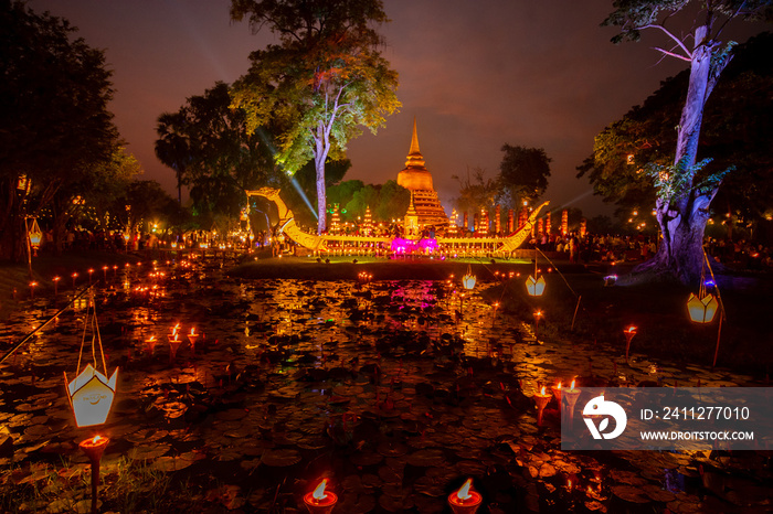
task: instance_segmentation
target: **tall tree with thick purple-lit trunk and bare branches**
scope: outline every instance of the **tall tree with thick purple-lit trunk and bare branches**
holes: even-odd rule
[[[695,7],[691,26],[679,35],[671,30],[674,17]],[[613,42],[638,41],[652,29],[668,41],[656,47],[664,56],[689,63],[687,97],[677,126],[673,163],[653,163],[645,172],[653,179],[656,217],[663,239],[650,260],[639,265],[629,280],[677,280],[695,285],[703,263],[703,232],[709,205],[724,171],[705,171],[698,161],[703,107],[722,71],[732,58],[733,43],[723,43],[723,30],[734,19],[770,18],[770,0],[616,0],[614,12],[603,22],[621,28]]]

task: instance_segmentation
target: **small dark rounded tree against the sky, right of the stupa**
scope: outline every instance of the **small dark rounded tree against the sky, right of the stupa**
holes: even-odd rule
[[[502,147],[502,161],[499,164],[500,194],[510,206],[521,202],[536,202],[548,189],[551,159],[541,148]]]

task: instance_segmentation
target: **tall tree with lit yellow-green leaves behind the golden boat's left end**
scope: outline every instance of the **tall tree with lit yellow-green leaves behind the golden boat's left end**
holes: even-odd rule
[[[379,0],[232,0],[231,17],[263,26],[279,44],[253,52],[234,85],[233,106],[248,130],[283,127],[276,161],[288,174],[313,160],[319,233],[326,229],[325,164],[340,160],[350,139],[383,126],[399,107],[398,74],[378,51],[375,25],[386,22]]]

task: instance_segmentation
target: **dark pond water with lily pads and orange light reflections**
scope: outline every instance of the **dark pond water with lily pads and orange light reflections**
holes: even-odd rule
[[[0,453],[3,488],[44,480],[40,470],[63,459],[83,471],[77,442],[100,433],[110,438],[106,472],[129,459],[186,476],[211,508],[299,512],[321,476],[342,513],[444,512],[468,476],[491,513],[770,508],[770,452],[562,451],[555,403],[538,426],[531,398],[559,381],[751,377],[546,341],[499,306],[496,282],[462,298],[448,281],[244,281],[201,260],[151,268],[96,288],[107,372],[119,367],[104,426],[76,428],[64,388],[87,296],[0,365],[0,443],[12,441]],[[2,341],[10,347],[63,303],[63,293],[31,301]],[[183,344],[172,358],[177,324]]]

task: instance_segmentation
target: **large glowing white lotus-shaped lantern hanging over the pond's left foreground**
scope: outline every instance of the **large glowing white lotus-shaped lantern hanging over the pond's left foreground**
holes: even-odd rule
[[[95,362],[94,364],[88,363],[72,382],[67,379],[67,373],[64,373],[67,398],[70,399],[70,406],[75,414],[75,422],[78,427],[91,427],[105,422],[110,407],[113,406],[116,382],[118,381],[118,368],[113,372],[112,377],[107,378],[107,365],[105,364],[105,353],[102,349],[102,338],[99,336],[99,326],[97,325],[96,311],[94,310],[94,298],[89,299],[87,311],[91,311],[91,317],[87,312],[77,370],[81,370],[83,347],[85,346],[86,332],[89,328],[92,329],[92,355],[94,355]],[[97,344],[99,346],[102,365],[105,373],[99,373],[95,368]]]

